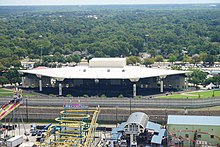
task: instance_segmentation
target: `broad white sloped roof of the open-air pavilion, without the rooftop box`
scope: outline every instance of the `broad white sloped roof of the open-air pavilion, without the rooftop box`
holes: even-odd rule
[[[75,66],[41,70],[20,70],[19,72],[24,74],[67,79],[141,79],[187,73],[187,71],[153,69],[141,66],[124,66],[120,68]]]

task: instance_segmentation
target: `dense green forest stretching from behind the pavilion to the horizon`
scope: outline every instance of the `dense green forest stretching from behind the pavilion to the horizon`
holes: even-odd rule
[[[0,68],[41,55],[43,65],[140,53],[156,61],[213,63],[220,61],[219,7],[0,7]]]

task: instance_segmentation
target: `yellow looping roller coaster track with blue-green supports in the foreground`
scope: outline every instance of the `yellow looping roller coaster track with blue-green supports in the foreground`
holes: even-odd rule
[[[44,136],[44,141],[36,142],[35,145],[92,147],[95,142],[96,121],[99,113],[100,108],[61,111],[60,117],[55,119],[58,125],[51,126]]]

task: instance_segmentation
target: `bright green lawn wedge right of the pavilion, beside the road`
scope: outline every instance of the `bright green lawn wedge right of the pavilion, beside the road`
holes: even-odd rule
[[[204,91],[194,91],[194,92],[186,92],[181,94],[172,94],[168,96],[160,96],[159,98],[211,98],[211,97],[219,97],[220,90],[204,90]]]

